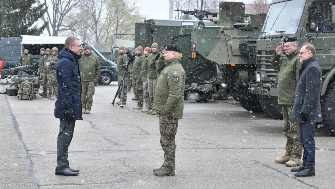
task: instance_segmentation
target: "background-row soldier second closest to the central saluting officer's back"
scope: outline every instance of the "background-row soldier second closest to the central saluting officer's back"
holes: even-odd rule
[[[142,90],[143,90],[143,97],[146,101],[146,108],[141,110],[142,112],[146,113],[152,109],[152,106],[149,101],[149,92],[148,92],[148,56],[151,53],[151,48],[146,47],[143,51],[145,59],[143,60],[141,71],[139,78],[137,80],[138,83],[142,83]]]

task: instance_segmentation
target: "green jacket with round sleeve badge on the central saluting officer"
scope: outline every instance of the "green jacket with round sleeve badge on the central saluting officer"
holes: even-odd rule
[[[154,97],[153,111],[182,119],[186,74],[180,58],[164,60]]]

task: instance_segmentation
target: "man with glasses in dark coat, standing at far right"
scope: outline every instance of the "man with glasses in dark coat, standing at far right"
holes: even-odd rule
[[[322,72],[315,60],[315,48],[303,44],[299,58],[302,62],[290,121],[300,123],[300,143],[304,149],[302,165],[291,169],[294,176],[315,176],[315,123],[322,121],[320,91]]]

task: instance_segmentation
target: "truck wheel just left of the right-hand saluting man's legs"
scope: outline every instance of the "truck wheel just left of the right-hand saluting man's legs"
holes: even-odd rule
[[[277,104],[277,99],[259,99],[259,103],[266,115],[273,119],[283,119],[283,110]]]

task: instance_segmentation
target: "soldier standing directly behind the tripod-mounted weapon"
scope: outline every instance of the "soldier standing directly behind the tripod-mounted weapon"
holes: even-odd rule
[[[122,78],[123,78],[123,73],[124,73],[123,65],[125,65],[125,61],[128,59],[128,56],[127,56],[127,54],[124,51],[124,46],[120,46],[119,47],[119,53],[120,53],[120,56],[117,59],[117,74],[118,74],[118,84],[120,86]],[[127,75],[128,74],[129,73],[127,73]],[[125,77],[125,79],[127,80],[127,76]],[[127,81],[124,82],[123,102],[122,102],[122,104],[127,104],[126,101],[127,101]],[[116,104],[120,105],[121,104],[121,99]]]

